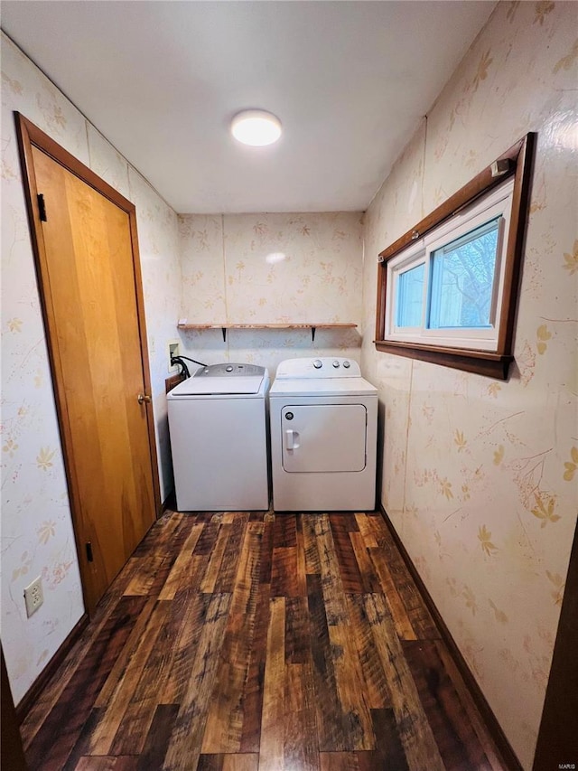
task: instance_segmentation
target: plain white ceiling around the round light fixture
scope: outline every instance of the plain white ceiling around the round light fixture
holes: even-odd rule
[[[494,0],[5,0],[2,28],[176,212],[367,209]],[[240,146],[244,108],[280,118]]]

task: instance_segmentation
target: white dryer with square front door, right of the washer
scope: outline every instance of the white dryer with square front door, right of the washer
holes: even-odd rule
[[[275,511],[375,508],[378,390],[357,362],[281,362],[269,411]]]

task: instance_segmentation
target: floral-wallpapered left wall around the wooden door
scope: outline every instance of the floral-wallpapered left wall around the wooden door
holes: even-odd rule
[[[136,204],[162,493],[170,490],[164,340],[181,300],[176,214],[2,36],[2,644],[18,702],[83,613],[13,110]],[[26,618],[23,588],[44,605]]]

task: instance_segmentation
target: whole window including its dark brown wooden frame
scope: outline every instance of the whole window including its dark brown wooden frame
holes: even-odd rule
[[[535,136],[381,252],[379,351],[508,377]]]

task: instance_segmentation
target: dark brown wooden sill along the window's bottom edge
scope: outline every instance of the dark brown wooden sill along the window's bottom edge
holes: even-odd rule
[[[508,380],[509,365],[514,361],[514,357],[510,355],[473,351],[470,348],[438,348],[434,345],[393,343],[388,340],[374,342],[376,349],[382,353],[394,353],[397,356],[405,356],[406,359],[442,364],[454,370],[474,372],[499,381]]]

